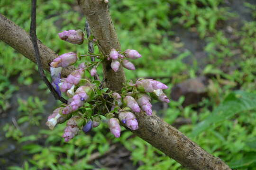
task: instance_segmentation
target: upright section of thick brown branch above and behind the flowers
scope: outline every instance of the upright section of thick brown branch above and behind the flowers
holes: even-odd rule
[[[107,4],[101,0],[78,0],[78,4],[89,22],[92,35],[99,41],[102,52],[109,54],[112,48],[121,50]],[[108,60],[103,62],[106,86],[113,91],[120,91],[122,84],[126,81],[124,70],[120,67],[117,72],[114,72],[110,64]]]

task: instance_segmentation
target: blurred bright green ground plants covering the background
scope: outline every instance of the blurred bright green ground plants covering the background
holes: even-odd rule
[[[87,49],[86,43],[75,46],[60,41],[57,36],[60,31],[84,27],[85,18],[74,11],[78,6],[73,3],[73,0],[38,0],[37,36],[58,54],[69,51],[83,53]],[[255,8],[252,4],[245,5]],[[29,30],[30,0],[15,0],[12,3],[1,0],[0,6],[3,7],[0,8],[1,14],[26,31]],[[254,98],[256,95],[256,23],[244,22],[241,28],[232,33],[238,37],[233,41],[218,25],[235,16],[228,8],[223,7],[223,0],[110,0],[110,13],[122,49],[136,49],[143,55],[141,59],[134,61],[137,67],[135,71],[126,71],[128,79],[153,77],[172,87],[187,78],[197,76],[200,70],[197,63],[186,65],[183,62],[185,57],[192,56],[192,52],[181,50],[183,42],[172,40],[176,36],[173,28],[183,26],[188,32],[193,30],[200,35],[201,40],[206,42],[204,51],[209,57],[208,65],[201,73],[211,79],[208,86],[209,98],[198,104],[198,110],[194,110],[192,106],[183,108],[183,98],[178,102],[172,101],[169,108],[159,112],[159,115],[161,113],[170,124],[178,117],[191,119],[192,124],[179,127],[186,136],[190,136],[207,152],[220,157],[233,168],[255,170],[256,110],[254,107],[242,105],[255,104],[244,102],[239,95],[236,96],[238,92],[234,91],[244,91],[241,96],[251,93]],[[255,17],[255,12],[252,12],[252,16]],[[234,50],[240,51],[238,58]],[[18,86],[35,83],[37,68],[34,63],[3,42],[0,42],[0,56],[0,109],[8,111],[9,99]],[[223,71],[220,66],[236,69]],[[40,89],[44,90],[45,85],[41,85]],[[170,93],[170,89],[166,93]],[[47,101],[44,103],[38,98],[29,98],[27,101],[17,102],[20,118],[18,125],[26,123],[28,117],[34,119],[34,124],[40,122],[40,113],[44,112],[43,105]],[[36,105],[31,104],[34,102]],[[218,116],[210,119],[221,112],[227,114],[221,114],[221,119]],[[209,119],[211,121],[207,122]],[[200,127],[200,122],[209,123],[210,127]],[[6,137],[17,140],[23,145],[24,152],[31,156],[22,168],[9,169],[93,169],[88,163],[91,153],[104,154],[115,143],[123,144],[131,152],[130,158],[134,165],[140,164],[139,170],[184,169],[179,163],[142,139],[132,136],[124,128],[121,137],[117,139],[110,134],[106,124],[101,124],[92,130],[93,135],[81,133],[69,143],[64,143],[61,138],[64,127],[61,124],[52,131],[41,129],[38,134],[26,136],[17,127],[7,124],[3,129]],[[45,143],[37,143],[39,139]]]

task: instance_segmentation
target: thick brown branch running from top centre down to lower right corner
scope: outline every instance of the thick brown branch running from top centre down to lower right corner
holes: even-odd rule
[[[112,48],[121,50],[107,4],[103,0],[78,0],[78,4],[104,52],[108,54]],[[120,90],[125,82],[123,69],[119,69],[117,73],[113,72],[108,61],[104,61],[103,68],[107,79],[106,86],[114,91]],[[184,167],[192,170],[231,170],[219,158],[207,153],[159,117],[135,114],[139,128],[133,132]]]

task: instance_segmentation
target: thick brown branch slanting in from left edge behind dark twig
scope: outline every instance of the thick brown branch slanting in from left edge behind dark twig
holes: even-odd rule
[[[7,43],[9,46],[23,54],[25,57],[36,63],[33,43],[30,40],[30,35],[25,30],[17,26],[14,22],[0,14],[0,40]],[[43,43],[37,41],[39,52],[42,58],[43,68],[49,71],[49,65],[53,59],[58,55],[43,45]],[[64,68],[62,70],[62,76],[67,76],[72,71],[73,66]]]

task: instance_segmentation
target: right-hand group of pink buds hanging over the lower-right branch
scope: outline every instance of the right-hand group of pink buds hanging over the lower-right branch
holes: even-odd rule
[[[131,130],[137,130],[138,122],[134,113],[145,112],[149,116],[152,115],[151,97],[149,95],[162,102],[170,102],[165,93],[163,93],[163,89],[166,88],[168,87],[159,81],[139,79],[136,84],[128,84],[126,88],[123,88],[124,93],[112,93],[112,98],[115,102],[112,110],[117,109],[118,118],[126,127]],[[159,91],[162,93],[159,93]],[[109,120],[109,125],[111,125],[111,133],[119,137],[121,133],[119,121],[116,118],[112,118]]]

